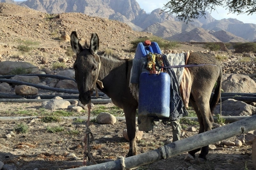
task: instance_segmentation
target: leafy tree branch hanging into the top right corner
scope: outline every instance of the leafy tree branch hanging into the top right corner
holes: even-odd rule
[[[166,12],[188,23],[203,17],[205,11],[211,13],[217,6],[225,7],[230,13],[252,15],[256,11],[256,0],[171,0],[164,4],[161,13]]]

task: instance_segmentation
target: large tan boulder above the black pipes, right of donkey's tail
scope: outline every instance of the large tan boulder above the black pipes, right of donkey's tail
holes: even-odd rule
[[[250,76],[243,74],[223,74],[221,89],[224,92],[255,93],[256,83]]]

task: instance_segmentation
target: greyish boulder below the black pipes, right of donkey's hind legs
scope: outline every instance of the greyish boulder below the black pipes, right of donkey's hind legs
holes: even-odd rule
[[[223,116],[250,116],[256,114],[256,107],[243,101],[227,99],[221,103],[221,114]],[[220,104],[214,110],[214,114],[220,113]]]

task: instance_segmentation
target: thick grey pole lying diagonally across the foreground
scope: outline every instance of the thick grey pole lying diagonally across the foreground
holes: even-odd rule
[[[210,145],[228,139],[233,136],[237,136],[248,131],[256,129],[256,115],[252,117],[244,118],[232,124],[218,127],[201,134],[196,134],[190,138],[175,141],[168,145],[164,145],[156,150],[150,152],[141,153],[132,157],[122,158],[119,160],[106,162],[102,164],[96,164],[86,167],[77,167],[70,170],[105,170],[105,169],[131,169],[134,167],[150,164],[157,160],[168,159],[175,155],[194,150],[196,148],[202,148],[203,146]]]

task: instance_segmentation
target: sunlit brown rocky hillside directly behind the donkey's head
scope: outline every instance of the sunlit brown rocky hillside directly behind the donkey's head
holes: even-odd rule
[[[0,3],[0,16],[0,60],[31,60],[43,66],[40,59],[49,57],[49,66],[44,67],[50,67],[59,57],[67,56],[72,31],[77,31],[83,38],[82,43],[90,39],[92,32],[97,32],[100,50],[109,48],[124,58],[129,57],[131,40],[152,36],[147,32],[133,31],[127,24],[116,20],[82,13],[49,15],[10,3]],[[24,46],[30,51],[22,53],[20,48]]]

